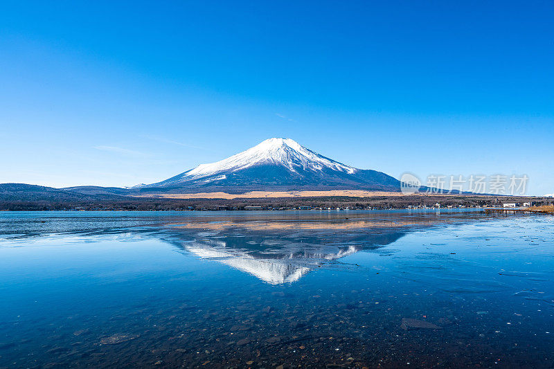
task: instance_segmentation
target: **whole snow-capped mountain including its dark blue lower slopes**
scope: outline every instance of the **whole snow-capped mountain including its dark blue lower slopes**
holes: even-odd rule
[[[334,161],[290,138],[269,138],[215,163],[134,187],[139,192],[247,192],[252,190],[400,191],[400,181],[375,170]]]

